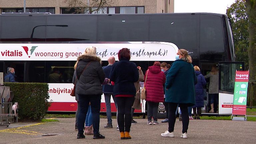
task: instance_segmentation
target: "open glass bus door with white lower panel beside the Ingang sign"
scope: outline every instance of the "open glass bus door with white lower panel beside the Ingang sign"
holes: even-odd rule
[[[231,115],[236,70],[244,70],[244,62],[219,62],[219,115]]]

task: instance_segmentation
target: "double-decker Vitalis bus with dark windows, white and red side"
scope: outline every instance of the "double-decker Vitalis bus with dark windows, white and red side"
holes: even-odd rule
[[[231,113],[234,71],[244,67],[234,62],[231,24],[224,14],[1,14],[0,72],[6,74],[7,67],[14,67],[19,82],[49,83],[53,103],[48,111],[75,111],[75,99],[68,93],[73,87],[76,57],[86,46],[98,48],[102,66],[107,65],[108,56],[128,47],[133,51],[132,61],[145,73],[154,61],[174,61],[171,43],[188,50],[192,64],[199,66],[203,75],[219,64],[220,101],[215,108],[219,113],[214,114]],[[60,84],[49,81],[53,68],[62,75]],[[208,100],[205,112],[209,111]],[[101,111],[105,111],[104,105],[103,97]]]

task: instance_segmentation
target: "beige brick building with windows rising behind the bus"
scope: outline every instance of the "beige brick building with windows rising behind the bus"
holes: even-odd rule
[[[84,0],[87,3],[87,0]],[[23,0],[1,0],[0,11],[6,13],[23,12]],[[26,0],[26,12],[50,12],[69,14],[64,0]],[[112,0],[110,7],[103,7],[101,13],[173,13],[174,0]]]

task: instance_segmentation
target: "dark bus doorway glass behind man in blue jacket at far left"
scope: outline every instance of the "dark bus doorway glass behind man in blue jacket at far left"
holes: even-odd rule
[[[26,82],[26,73],[25,67],[26,64],[24,61],[5,61],[4,62],[4,74],[8,73],[8,68],[12,67],[15,71],[15,81],[17,82]]]

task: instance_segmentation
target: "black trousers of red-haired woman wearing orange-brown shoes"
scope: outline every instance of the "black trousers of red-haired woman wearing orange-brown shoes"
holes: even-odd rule
[[[134,99],[134,97],[115,97],[118,109],[117,123],[120,132],[130,132],[132,124],[131,109]]]

